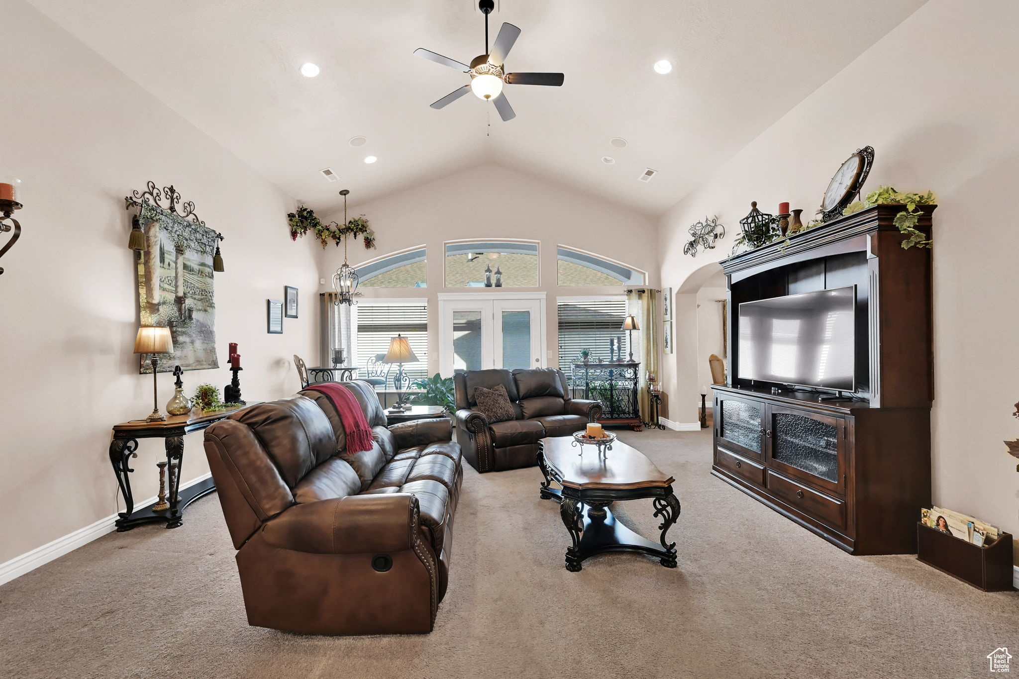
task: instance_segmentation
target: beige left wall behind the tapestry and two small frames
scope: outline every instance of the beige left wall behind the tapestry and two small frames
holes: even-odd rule
[[[311,243],[288,238],[290,200],[25,3],[5,1],[2,13],[16,30],[4,33],[0,172],[23,180],[25,208],[21,239],[0,261],[0,563],[114,513],[110,427],[152,410],[152,376],[131,354],[138,288],[122,197],[132,188],[173,183],[226,236],[216,338],[220,364],[226,343],[240,344],[246,398],[296,390],[289,357],[317,344],[318,288]],[[301,319],[267,335],[265,300],[284,284],[301,288]],[[184,384],[194,393],[229,377],[189,372]],[[160,408],[172,381],[159,376]],[[187,438],[185,482],[208,471],[201,436]],[[140,448],[144,499],[162,446]]]

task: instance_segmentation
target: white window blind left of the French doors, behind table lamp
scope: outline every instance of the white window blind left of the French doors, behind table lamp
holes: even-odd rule
[[[412,382],[428,377],[427,304],[373,304],[362,299],[358,302],[357,309],[358,332],[354,342],[361,377],[368,376],[368,360],[373,356],[381,358],[385,355],[389,350],[389,340],[397,334],[408,338],[419,358],[416,363],[404,363],[404,373],[410,376]],[[394,364],[385,387],[380,386],[379,389],[392,389],[395,375]]]

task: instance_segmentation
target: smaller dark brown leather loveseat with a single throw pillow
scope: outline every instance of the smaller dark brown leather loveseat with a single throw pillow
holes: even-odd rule
[[[453,375],[457,441],[478,471],[502,471],[537,464],[538,440],[570,436],[601,416],[601,403],[570,397],[567,377],[552,367],[468,371]],[[516,418],[488,421],[475,409],[474,390],[505,387]]]

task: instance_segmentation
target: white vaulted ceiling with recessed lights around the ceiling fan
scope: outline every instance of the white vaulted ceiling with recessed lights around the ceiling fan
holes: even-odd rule
[[[502,122],[470,96],[429,108],[469,78],[413,56],[482,54],[475,0],[30,1],[316,209],[341,204],[339,188],[356,205],[494,161],[651,215],[924,2],[497,0],[493,39],[502,21],[522,30],[508,70],[566,74],[507,86],[517,118]],[[655,73],[658,59],[673,72]],[[309,61],[318,77],[300,74]]]

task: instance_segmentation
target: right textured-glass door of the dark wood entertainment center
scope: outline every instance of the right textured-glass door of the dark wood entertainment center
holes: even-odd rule
[[[845,419],[773,405],[768,423],[770,466],[812,486],[843,492]]]

